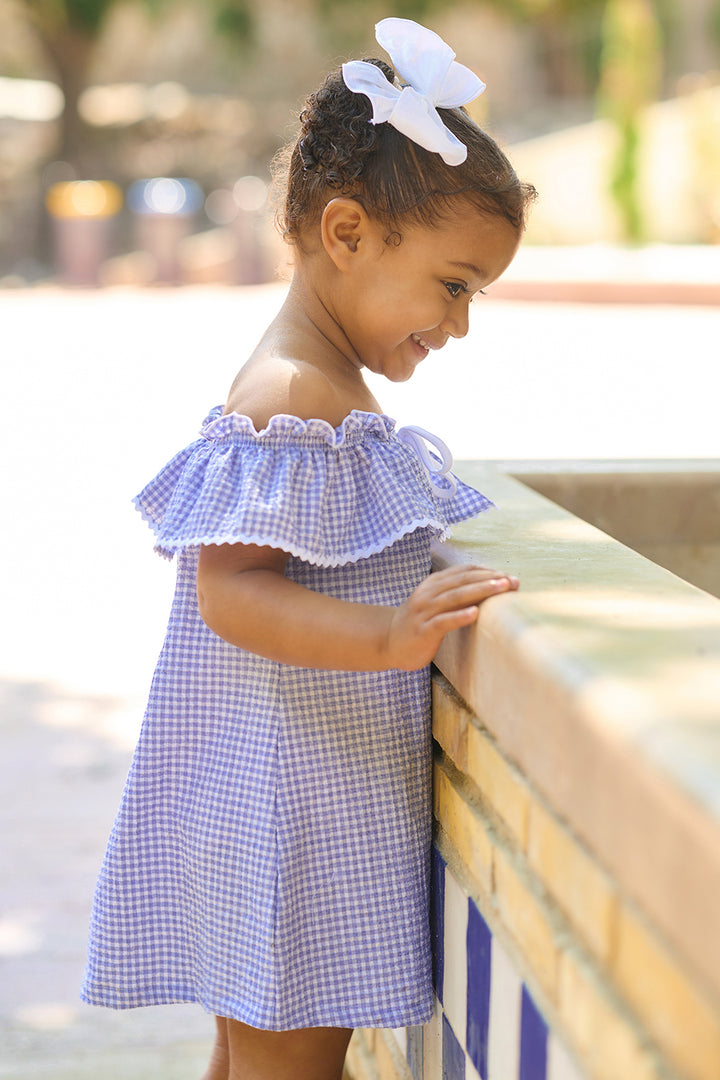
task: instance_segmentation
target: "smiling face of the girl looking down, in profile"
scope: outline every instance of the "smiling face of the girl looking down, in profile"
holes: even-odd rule
[[[404,228],[397,246],[373,222],[357,260],[342,327],[361,363],[392,382],[409,379],[432,350],[467,333],[473,297],[512,262],[510,221],[466,208],[434,227]]]

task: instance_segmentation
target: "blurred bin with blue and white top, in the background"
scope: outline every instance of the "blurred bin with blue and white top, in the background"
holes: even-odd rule
[[[201,188],[194,180],[167,176],[136,180],[127,190],[127,205],[135,216],[137,245],[153,259],[154,281],[179,284],[180,244],[203,205]]]

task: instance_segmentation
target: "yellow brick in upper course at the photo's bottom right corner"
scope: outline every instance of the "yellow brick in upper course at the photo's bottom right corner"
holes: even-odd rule
[[[720,1009],[640,916],[623,906],[613,968],[622,994],[683,1077],[720,1078]]]

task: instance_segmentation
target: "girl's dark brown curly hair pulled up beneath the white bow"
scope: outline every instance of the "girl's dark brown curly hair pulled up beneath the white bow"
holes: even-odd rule
[[[370,59],[389,82],[393,69]],[[518,178],[494,140],[464,109],[439,109],[443,121],[467,147],[461,165],[418,146],[389,123],[371,124],[372,106],[349,90],[342,69],[330,72],[300,114],[295,144],[275,162],[276,183],[285,188],[277,218],[283,235],[298,243],[316,225],[330,199],[357,199],[369,214],[396,232],[403,221],[434,225],[458,198],[477,210],[525,227],[536,195]]]

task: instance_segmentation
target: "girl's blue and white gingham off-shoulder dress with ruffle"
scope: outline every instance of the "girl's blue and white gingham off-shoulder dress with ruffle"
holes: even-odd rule
[[[97,885],[85,1001],[195,1001],[271,1030],[430,1017],[429,670],[246,652],[202,621],[195,572],[201,544],[269,544],[309,589],[398,605],[432,540],[491,505],[448,468],[386,416],[276,416],[257,433],[218,408],[137,497],[177,588]]]

